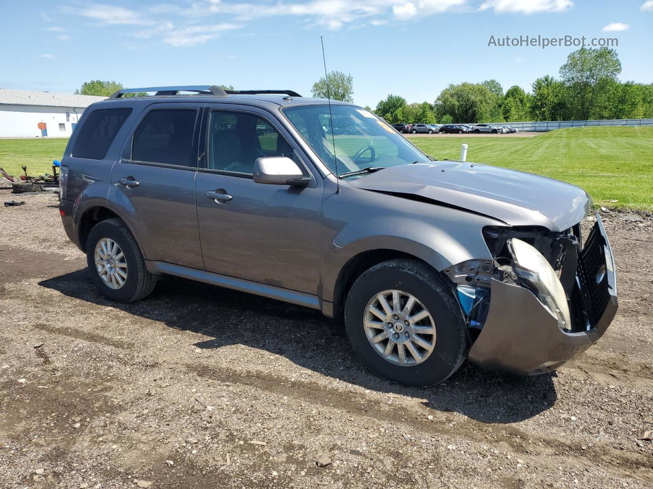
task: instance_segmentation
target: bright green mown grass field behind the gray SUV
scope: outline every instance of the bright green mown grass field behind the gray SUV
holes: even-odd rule
[[[560,129],[535,138],[445,138],[411,141],[434,158],[455,160],[468,143],[469,161],[539,173],[587,190],[598,205],[653,211],[653,127]],[[0,167],[50,171],[67,140],[0,140]],[[618,200],[613,203],[611,200]]]

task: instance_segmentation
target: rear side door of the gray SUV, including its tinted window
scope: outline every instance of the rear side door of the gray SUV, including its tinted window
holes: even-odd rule
[[[203,106],[149,106],[112,169],[109,203],[127,220],[148,260],[204,268],[195,211]]]

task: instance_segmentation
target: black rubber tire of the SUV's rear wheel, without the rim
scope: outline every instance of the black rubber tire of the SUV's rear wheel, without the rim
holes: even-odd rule
[[[118,244],[123,254],[124,263],[126,263],[127,276],[119,288],[112,288],[108,285],[101,278],[95,265],[95,250],[101,249],[98,244],[103,239],[109,239]],[[95,224],[86,243],[86,262],[91,280],[106,297],[119,303],[131,303],[150,295],[154,289],[156,277],[146,269],[136,240],[121,220],[108,219]]]

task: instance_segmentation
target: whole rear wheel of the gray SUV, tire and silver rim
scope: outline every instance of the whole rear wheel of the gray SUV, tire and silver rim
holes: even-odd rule
[[[119,219],[95,224],[88,235],[86,261],[91,280],[112,301],[130,303],[150,295],[148,272],[136,240]]]

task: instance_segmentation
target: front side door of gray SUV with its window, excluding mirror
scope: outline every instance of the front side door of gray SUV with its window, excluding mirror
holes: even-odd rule
[[[208,108],[205,119],[195,195],[206,270],[317,295],[321,178],[308,187],[255,183],[260,156],[289,156],[312,173],[271,114]]]

